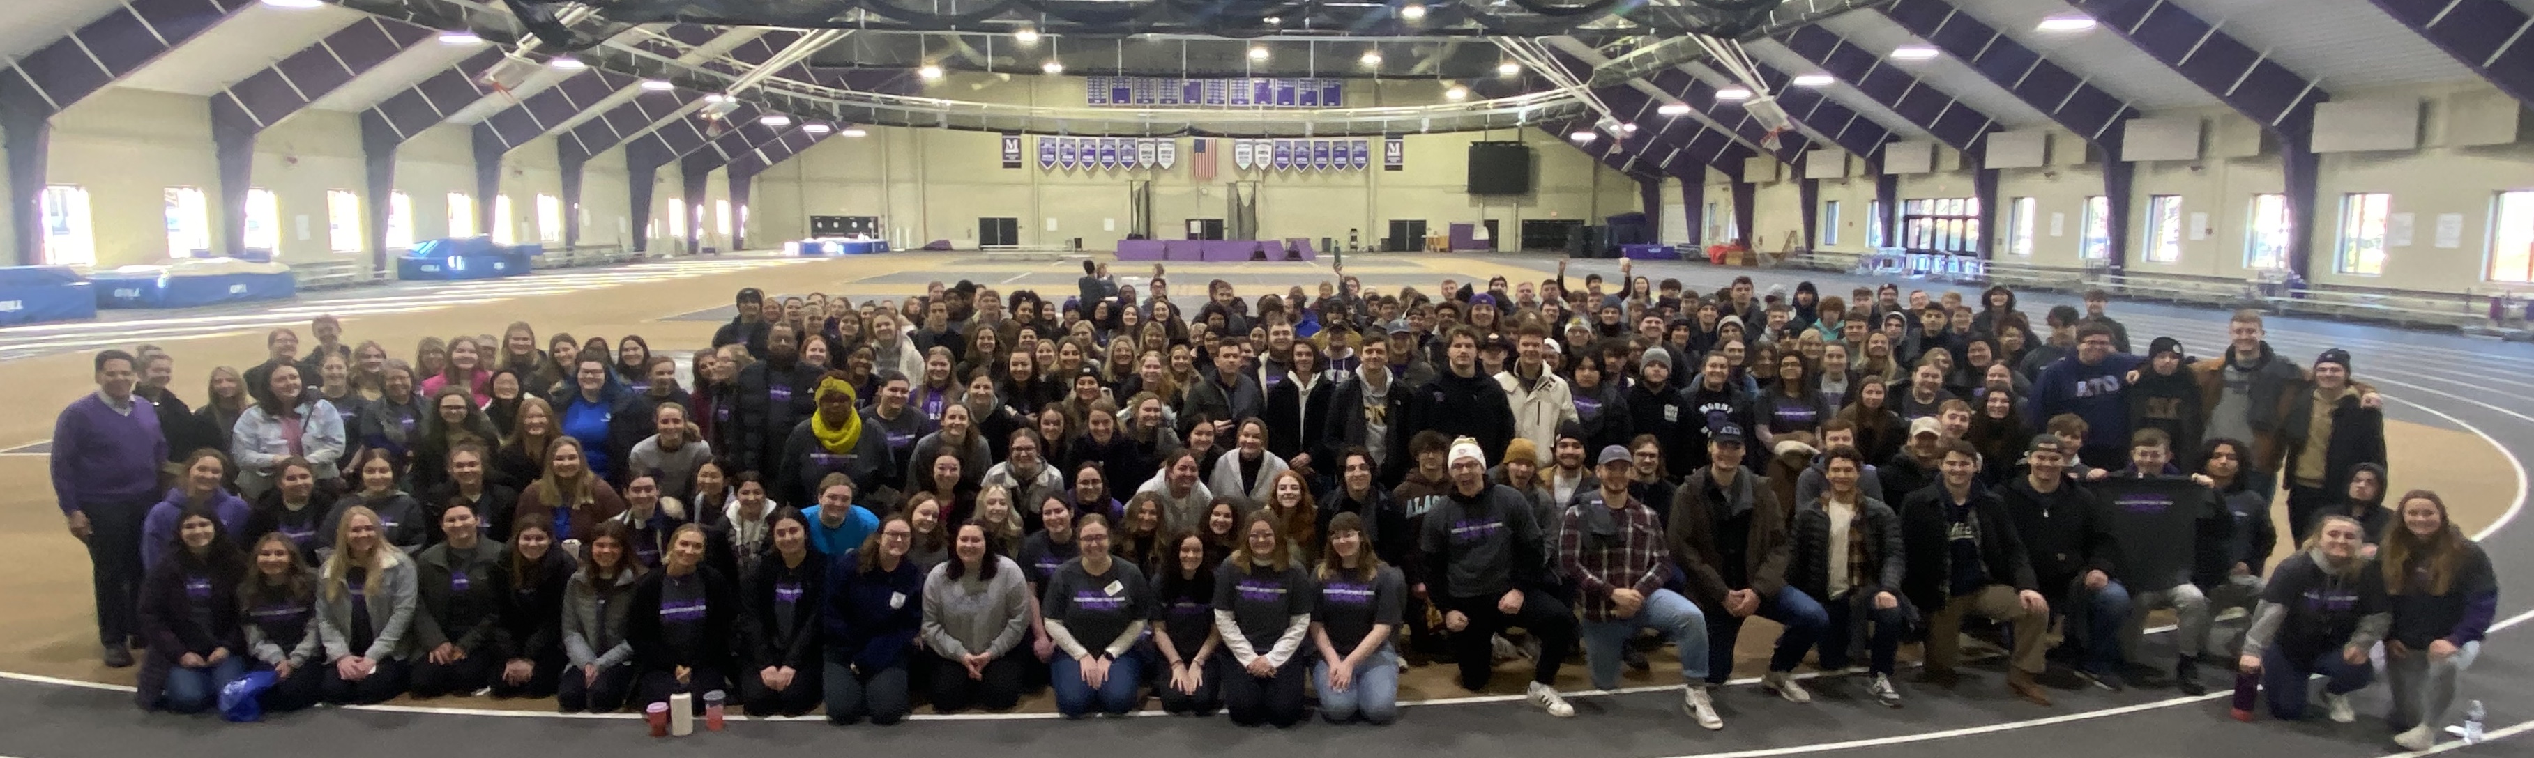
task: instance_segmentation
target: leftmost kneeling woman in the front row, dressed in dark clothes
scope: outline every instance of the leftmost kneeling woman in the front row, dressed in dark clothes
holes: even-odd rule
[[[150,644],[134,700],[142,710],[203,712],[220,684],[246,674],[238,603],[226,588],[246,578],[246,560],[220,515],[188,507],[175,517],[167,558],[150,565],[137,616]]]

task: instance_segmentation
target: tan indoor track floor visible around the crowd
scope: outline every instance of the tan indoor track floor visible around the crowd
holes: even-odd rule
[[[945,264],[922,256],[824,259],[796,266],[704,274],[677,281],[623,284],[547,299],[466,304],[413,317],[360,317],[345,319],[345,335],[355,345],[360,340],[378,340],[380,345],[388,345],[390,355],[411,355],[411,345],[428,335],[502,335],[509,322],[527,319],[530,324],[540,324],[540,340],[552,327],[563,327],[583,340],[593,335],[608,335],[613,340],[618,335],[636,332],[644,335],[654,350],[679,350],[710,342],[717,324],[659,319],[727,304],[730,294],[740,286],[763,286],[768,292],[856,292],[864,297],[905,297],[920,294],[922,286],[854,286],[851,281],[902,271],[935,271],[938,279],[955,281],[971,279],[971,274],[991,271],[1003,276],[973,279],[993,284],[1014,274],[1026,274],[1029,284],[1036,284],[1041,294],[1047,294],[1052,281],[1072,281],[1064,279],[1067,266],[1079,264],[976,264],[973,259]],[[1171,264],[1171,279],[1176,281],[1173,289],[1186,292],[1214,274],[1259,271],[1254,266],[1275,264]],[[1290,266],[1292,264],[1282,264],[1280,269]],[[1536,271],[1528,269],[1449,256],[1384,256],[1378,264],[1366,259],[1358,266],[1348,266],[1348,274],[1373,279],[1376,266],[1378,274],[1389,274],[1381,279],[1396,276],[1419,289],[1432,289],[1444,276],[1455,276],[1460,281],[1485,281],[1485,276],[1493,274],[1513,279],[1536,276]],[[1325,266],[1313,269],[1325,271]],[[1148,274],[1148,269],[1120,264],[1117,274],[1140,276]],[[1297,281],[1305,279],[1315,284],[1320,276],[1297,276]],[[1014,289],[1014,284],[998,286],[1006,292]],[[1376,286],[1396,284],[1384,281]],[[302,337],[307,332],[302,330]],[[165,342],[165,347],[177,355],[175,388],[188,398],[188,403],[200,401],[200,378],[213,365],[243,368],[264,355],[261,335],[182,340]],[[0,416],[0,446],[46,439],[51,434],[56,408],[94,390],[89,378],[89,355],[48,355],[0,363],[0,385],[18,388],[23,408],[28,408],[25,413]],[[2410,487],[2440,489],[2453,507],[2455,522],[2466,530],[2478,530],[2493,522],[2516,492],[2516,482],[2509,482],[2509,464],[2501,451],[2473,434],[2417,423],[2387,423],[2387,449],[2392,451],[2390,469],[2397,472],[2392,492]],[[2281,540],[2286,540],[2286,504],[2276,507],[2276,512],[2281,512],[2278,532]],[[2281,555],[2288,550],[2288,545],[2281,545]],[[53,507],[43,456],[0,456],[0,555],[8,555],[5,560],[13,563],[13,570],[0,573],[0,606],[10,608],[8,616],[0,616],[0,672],[132,684],[132,669],[106,669],[96,662],[96,626],[89,593],[86,550],[63,530],[61,512]],[[1751,621],[1736,646],[1736,674],[1751,677],[1766,669],[1774,639],[1774,624]],[[1652,654],[1652,672],[1624,672],[1622,684],[1678,684],[1678,659],[1670,649]],[[1498,667],[1495,684],[1487,692],[1520,692],[1520,684],[1528,679],[1528,662],[1508,662]],[[1558,687],[1589,687],[1581,657],[1569,662]],[[1449,667],[1417,667],[1404,674],[1399,684],[1401,700],[1465,695],[1470,692],[1460,690]],[[547,702],[502,702],[492,697],[446,697],[433,705],[517,710],[547,707]],[[1036,695],[1024,700],[1021,710],[1047,712],[1054,707],[1047,695]]]

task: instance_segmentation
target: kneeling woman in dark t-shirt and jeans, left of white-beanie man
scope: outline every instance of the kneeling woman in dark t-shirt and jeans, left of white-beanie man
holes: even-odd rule
[[[1391,631],[1406,619],[1406,575],[1381,563],[1363,540],[1363,517],[1328,520],[1320,601],[1310,613],[1310,682],[1328,723],[1386,725],[1399,717],[1399,654]]]

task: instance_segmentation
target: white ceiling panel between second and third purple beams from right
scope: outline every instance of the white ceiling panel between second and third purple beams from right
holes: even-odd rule
[[[2308,5],[2314,0],[2270,0],[2276,5]],[[2085,33],[2042,33],[2035,30],[2042,18],[2075,13],[2060,0],[1954,0],[1956,8],[1979,18],[1989,28],[1997,28],[2007,38],[2042,53],[2050,63],[2060,63],[2088,84],[2126,99],[2139,109],[2194,109],[2215,106],[2217,96],[2167,68],[2149,53],[2123,41],[2111,30],[2085,30]]]

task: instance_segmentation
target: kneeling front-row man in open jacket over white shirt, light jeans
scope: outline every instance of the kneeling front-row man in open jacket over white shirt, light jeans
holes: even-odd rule
[[[1822,494],[1802,502],[1789,527],[1786,586],[1822,598],[1822,672],[1847,669],[1862,641],[1873,672],[1865,695],[1900,707],[1893,669],[1916,616],[1900,598],[1900,515],[1860,487],[1865,454],[1855,446],[1832,444],[1822,456]]]

